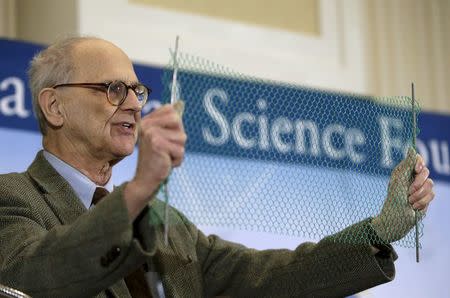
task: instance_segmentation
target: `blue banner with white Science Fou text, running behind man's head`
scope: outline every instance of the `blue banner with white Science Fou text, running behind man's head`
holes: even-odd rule
[[[38,130],[26,71],[41,49],[41,45],[0,39],[0,127]],[[153,89],[144,107],[148,113],[167,97],[167,86],[164,90],[161,80],[164,70],[135,64],[135,71]],[[210,74],[181,72],[178,83],[186,101],[188,152],[358,167],[363,172],[388,175],[411,142],[411,109],[406,106]],[[417,149],[431,176],[450,182],[450,116],[421,112],[418,125]]]

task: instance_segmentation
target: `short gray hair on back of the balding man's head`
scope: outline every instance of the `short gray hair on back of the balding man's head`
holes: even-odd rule
[[[31,60],[28,77],[33,111],[43,135],[47,132],[47,121],[39,106],[39,93],[44,88],[70,82],[75,69],[72,59],[73,47],[82,41],[92,39],[98,38],[77,36],[61,39],[37,53]]]

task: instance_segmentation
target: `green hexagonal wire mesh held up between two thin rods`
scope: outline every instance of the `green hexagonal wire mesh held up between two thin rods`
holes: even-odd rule
[[[320,239],[379,213],[417,132],[411,98],[263,80],[185,53],[177,63],[189,139],[170,204],[192,222]],[[414,233],[397,243],[413,247]]]

